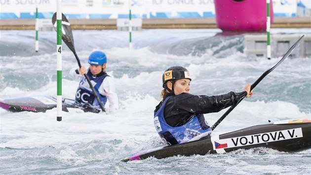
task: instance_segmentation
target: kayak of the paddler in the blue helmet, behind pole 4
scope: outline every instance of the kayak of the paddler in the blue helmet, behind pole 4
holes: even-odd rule
[[[62,110],[68,112],[67,108],[78,108],[75,100],[62,98]],[[19,98],[0,99],[0,107],[10,112],[46,112],[56,108],[56,97],[53,96],[28,96]]]

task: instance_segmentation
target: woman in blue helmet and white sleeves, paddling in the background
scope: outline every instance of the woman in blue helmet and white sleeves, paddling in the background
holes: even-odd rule
[[[89,68],[73,68],[71,75],[80,78],[79,87],[76,92],[76,104],[81,106],[85,112],[99,112],[100,105],[87,83],[86,74],[90,79],[100,102],[107,113],[114,112],[118,108],[118,97],[113,79],[106,73],[107,56],[102,51],[94,51],[88,57]],[[109,105],[107,103],[109,101]],[[108,107],[109,106],[109,107]]]

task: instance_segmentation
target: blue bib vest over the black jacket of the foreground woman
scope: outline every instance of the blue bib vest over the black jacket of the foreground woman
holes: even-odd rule
[[[157,133],[160,135],[162,140],[164,140],[169,145],[174,145],[178,143],[184,143],[194,138],[195,136],[202,134],[204,132],[211,133],[211,128],[207,125],[203,114],[193,115],[191,119],[184,125],[179,127],[169,126],[164,119],[164,107],[167,97],[160,108],[155,112],[154,124]]]

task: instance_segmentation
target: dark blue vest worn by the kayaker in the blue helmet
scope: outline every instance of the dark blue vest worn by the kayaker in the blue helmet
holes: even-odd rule
[[[103,104],[103,106],[105,106],[105,104],[107,102],[107,97],[103,94],[100,94],[98,89],[102,85],[104,79],[109,75],[104,74],[104,75],[99,76],[99,77],[93,77],[90,70],[87,71],[86,75],[90,79],[90,82],[92,83],[92,85],[96,91],[96,94],[97,94],[98,98],[100,99],[101,103]],[[76,92],[75,101],[78,104],[88,103],[92,107],[94,107],[96,109],[100,109],[98,101],[96,100],[95,95],[94,95],[92,89],[90,88],[89,84],[87,83],[87,80],[85,77],[83,77],[79,83],[79,87],[78,87],[77,92]]]

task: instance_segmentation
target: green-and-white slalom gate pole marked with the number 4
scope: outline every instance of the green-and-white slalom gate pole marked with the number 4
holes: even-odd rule
[[[57,23],[57,121],[62,121],[62,0],[57,0],[56,23]]]

